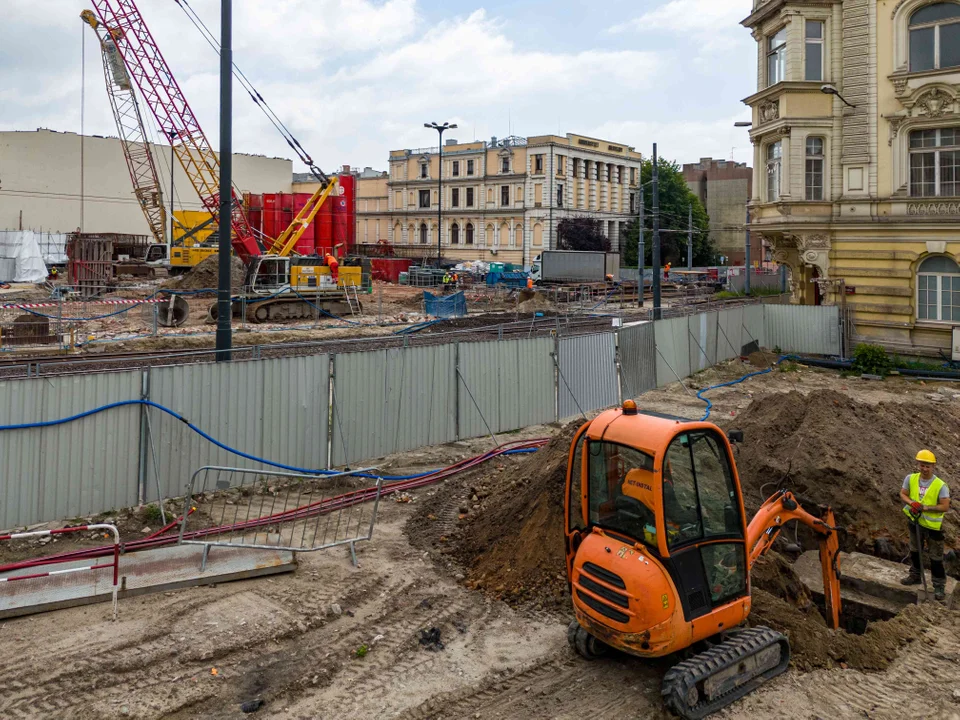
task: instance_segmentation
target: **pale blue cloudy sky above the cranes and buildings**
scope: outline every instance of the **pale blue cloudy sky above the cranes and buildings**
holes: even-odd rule
[[[104,0],[99,0],[103,2]],[[115,2],[116,0],[106,0]],[[214,147],[219,0],[138,0]],[[91,0],[4,0],[0,130],[116,135]],[[234,62],[325,171],[385,170],[390,150],[568,132],[677,162],[751,162],[738,120],[756,90],[739,22],[751,0],[234,0]],[[293,158],[234,85],[235,152]],[[151,132],[156,122],[145,113]],[[295,171],[304,167],[294,163]]]

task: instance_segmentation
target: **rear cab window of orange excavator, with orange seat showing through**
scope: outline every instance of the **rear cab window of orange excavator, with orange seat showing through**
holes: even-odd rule
[[[610,442],[587,448],[590,524],[656,548],[653,457]]]

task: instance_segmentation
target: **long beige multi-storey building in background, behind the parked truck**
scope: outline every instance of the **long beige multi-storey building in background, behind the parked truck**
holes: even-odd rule
[[[394,150],[388,177],[360,177],[357,240],[408,255],[437,247],[439,148]],[[568,134],[443,147],[443,256],[523,264],[556,247],[561,219],[599,219],[614,250],[633,216],[640,153]]]

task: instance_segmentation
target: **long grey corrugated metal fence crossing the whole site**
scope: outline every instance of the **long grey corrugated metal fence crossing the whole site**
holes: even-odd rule
[[[149,399],[217,442],[318,469],[565,420],[749,351],[839,352],[833,307],[751,305],[564,338],[0,381],[0,425]],[[145,406],[0,432],[0,526],[181,495],[202,465],[260,468]]]

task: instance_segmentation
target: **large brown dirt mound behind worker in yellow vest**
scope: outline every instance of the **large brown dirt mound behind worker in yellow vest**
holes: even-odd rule
[[[845,550],[873,552],[878,538],[904,549],[900,483],[919,449],[936,453],[948,483],[960,477],[960,412],[949,404],[868,405],[832,391],[790,392],[761,397],[724,424],[744,431],[736,460],[748,511],[778,487],[811,509],[831,505],[847,529]]]

